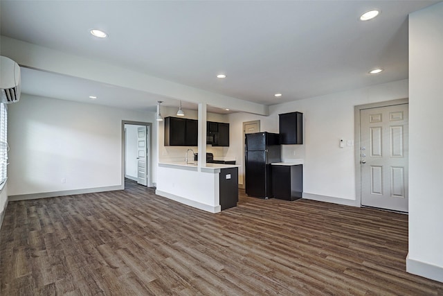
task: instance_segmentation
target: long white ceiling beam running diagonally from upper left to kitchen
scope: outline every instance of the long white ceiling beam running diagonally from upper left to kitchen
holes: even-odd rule
[[[127,87],[197,104],[206,103],[239,112],[269,115],[269,107],[266,105],[181,85],[105,62],[89,60],[6,36],[1,36],[0,44],[1,55],[15,60],[24,67]]]

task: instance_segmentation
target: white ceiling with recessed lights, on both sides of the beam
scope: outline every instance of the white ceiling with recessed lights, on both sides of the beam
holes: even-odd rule
[[[408,14],[437,2],[1,0],[0,26],[17,40],[274,105],[408,78]],[[372,8],[381,15],[359,21]],[[368,74],[375,67],[385,71]],[[177,104],[36,69],[22,70],[22,90],[90,103],[95,92],[92,103],[134,109]]]

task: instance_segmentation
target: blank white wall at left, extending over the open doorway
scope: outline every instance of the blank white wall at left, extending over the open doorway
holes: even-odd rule
[[[122,121],[153,119],[154,112],[22,94],[8,109],[8,195],[123,186]]]

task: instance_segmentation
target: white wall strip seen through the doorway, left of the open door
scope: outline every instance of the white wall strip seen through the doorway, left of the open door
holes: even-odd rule
[[[126,132],[126,155],[125,177],[137,180],[137,157],[138,157],[138,128],[142,125],[125,124]]]

